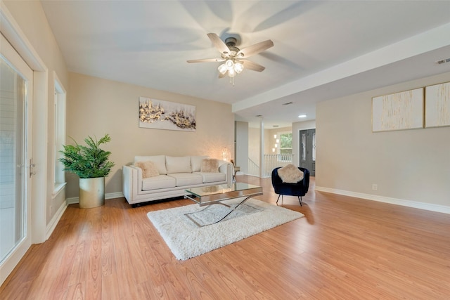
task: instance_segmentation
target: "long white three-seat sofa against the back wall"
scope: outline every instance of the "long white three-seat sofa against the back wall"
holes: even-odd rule
[[[207,170],[207,156],[170,157],[167,155],[136,156],[134,164],[122,167],[123,193],[133,207],[186,195],[187,188],[228,184],[233,181],[233,164],[217,159],[217,170]],[[145,178],[146,169],[136,162],[151,162],[155,174]],[[138,163],[139,164],[139,163]],[[158,171],[155,171],[155,167]],[[203,171],[202,171],[203,170]]]

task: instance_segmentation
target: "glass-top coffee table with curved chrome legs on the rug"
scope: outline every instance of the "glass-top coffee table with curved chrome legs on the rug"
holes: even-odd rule
[[[193,202],[198,203],[200,207],[206,206],[205,209],[202,209],[201,211],[186,214],[186,216],[197,226],[202,227],[223,221],[227,216],[229,216],[229,214],[240,207],[240,205],[244,204],[245,201],[249,200],[253,196],[262,195],[262,187],[238,182],[231,185],[211,185],[199,188],[189,188],[186,189],[186,193],[187,194],[184,196],[186,199],[190,199]],[[229,205],[224,203],[226,200],[240,197],[243,197],[243,200],[238,202],[238,204]],[[224,212],[224,216],[217,216],[217,218],[212,220],[210,223],[199,223],[196,221],[193,214],[201,214],[205,210],[209,209],[209,207],[213,204],[221,204],[229,209]]]

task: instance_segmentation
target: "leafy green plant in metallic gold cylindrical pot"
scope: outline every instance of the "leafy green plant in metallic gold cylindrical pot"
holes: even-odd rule
[[[73,138],[75,145],[63,145],[60,152],[63,157],[63,171],[79,176],[79,207],[88,209],[99,207],[105,203],[105,177],[114,167],[114,162],[108,161],[111,152],[100,148],[101,144],[108,143],[111,138],[105,134],[97,141],[91,136],[84,138],[86,145],[79,145]]]

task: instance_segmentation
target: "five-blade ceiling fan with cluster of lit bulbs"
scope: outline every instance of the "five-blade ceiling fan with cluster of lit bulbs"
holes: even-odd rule
[[[250,60],[246,60],[250,56],[254,56],[262,51],[274,46],[274,42],[270,39],[261,41],[252,46],[239,49],[236,46],[238,39],[236,37],[227,37],[222,41],[215,33],[208,33],[207,36],[212,41],[212,44],[220,51],[220,58],[203,58],[199,60],[188,60],[188,63],[214,63],[223,62],[217,70],[219,70],[219,78],[225,77],[226,74],[230,77],[230,84],[234,86],[234,77],[245,69],[262,72],[265,67]]]

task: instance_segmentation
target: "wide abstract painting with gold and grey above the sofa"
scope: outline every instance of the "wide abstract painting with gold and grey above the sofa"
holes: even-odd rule
[[[195,131],[195,106],[139,97],[139,127]]]

